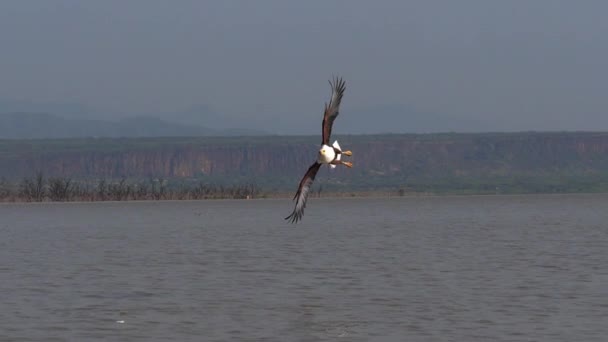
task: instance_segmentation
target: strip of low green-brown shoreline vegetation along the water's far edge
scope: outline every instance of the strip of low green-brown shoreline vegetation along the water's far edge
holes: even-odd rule
[[[345,189],[324,191],[322,185],[313,188],[311,198],[361,198],[361,197],[421,197],[421,196],[478,196],[478,195],[524,195],[524,194],[582,194],[606,193],[599,189],[571,189],[568,191],[548,190],[530,191],[489,191],[486,189],[467,189],[457,191],[420,191],[417,189],[377,188]],[[564,191],[565,190],[565,191]],[[575,191],[572,191],[575,190]],[[585,191],[587,190],[587,191]],[[594,191],[595,190],[595,191]],[[295,190],[294,190],[295,191]],[[286,190],[265,190],[255,183],[235,185],[198,182],[169,181],[162,178],[147,180],[74,180],[62,177],[45,177],[37,172],[34,177],[23,178],[19,182],[0,179],[0,203],[28,202],[103,202],[103,201],[179,201],[179,200],[218,200],[218,199],[291,199],[294,192]]]

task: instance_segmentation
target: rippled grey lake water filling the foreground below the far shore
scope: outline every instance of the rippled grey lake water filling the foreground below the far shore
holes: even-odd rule
[[[0,205],[1,341],[606,341],[608,195]]]

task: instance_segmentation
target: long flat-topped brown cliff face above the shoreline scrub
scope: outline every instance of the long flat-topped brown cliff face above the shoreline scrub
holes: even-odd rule
[[[608,133],[486,133],[338,137],[353,169],[333,178],[412,179],[606,174]],[[317,137],[67,139],[0,142],[0,177],[41,170],[70,178],[234,178],[297,182]],[[325,171],[324,171],[325,172]],[[365,177],[364,177],[365,176]]]

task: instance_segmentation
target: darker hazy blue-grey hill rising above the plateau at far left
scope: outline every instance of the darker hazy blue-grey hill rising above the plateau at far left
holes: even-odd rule
[[[0,139],[53,139],[82,137],[169,137],[263,135],[248,129],[215,130],[199,125],[171,123],[138,116],[119,121],[68,119],[47,113],[0,114]]]

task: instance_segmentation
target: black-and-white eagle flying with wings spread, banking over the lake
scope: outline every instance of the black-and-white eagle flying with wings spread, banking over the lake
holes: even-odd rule
[[[302,215],[304,215],[304,208],[306,208],[306,199],[308,198],[308,193],[310,192],[312,182],[314,181],[317,172],[321,168],[321,165],[327,164],[331,168],[335,168],[336,165],[353,167],[352,163],[340,160],[343,154],[346,156],[351,156],[353,154],[351,151],[342,151],[337,140],[334,141],[332,146],[329,146],[331,127],[334,120],[336,120],[336,117],[338,117],[340,101],[342,101],[342,96],[344,95],[344,90],[346,89],[345,82],[341,78],[337,77],[333,81],[330,80],[329,85],[331,86],[331,99],[329,100],[329,104],[325,104],[325,114],[323,115],[322,124],[323,141],[321,142],[321,148],[319,149],[317,160],[308,168],[308,171],[306,171],[306,174],[300,181],[298,191],[293,198],[296,201],[293,212],[291,215],[285,218],[291,223],[296,223],[302,219]]]

